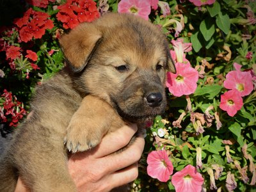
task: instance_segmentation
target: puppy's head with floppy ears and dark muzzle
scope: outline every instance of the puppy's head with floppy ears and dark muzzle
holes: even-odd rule
[[[175,67],[159,28],[134,15],[108,13],[60,43],[74,73],[81,72],[77,82],[84,92],[106,100],[127,120],[163,113],[166,70]]]

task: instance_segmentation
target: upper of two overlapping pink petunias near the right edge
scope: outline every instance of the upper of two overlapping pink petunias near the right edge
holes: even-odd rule
[[[242,65],[234,63],[234,68],[228,72],[226,81],[224,81],[224,87],[230,90],[237,90],[238,95],[243,97],[249,95],[253,90],[252,75],[250,72],[241,72]]]

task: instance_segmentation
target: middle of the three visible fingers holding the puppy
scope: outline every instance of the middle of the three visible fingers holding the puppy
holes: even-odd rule
[[[143,152],[144,145],[145,140],[143,136],[138,136],[138,138],[134,140],[134,143],[129,145],[129,147],[125,148],[122,152],[99,159],[98,163],[100,167],[104,167],[104,170],[102,170],[103,174],[106,175],[116,172],[138,162]]]

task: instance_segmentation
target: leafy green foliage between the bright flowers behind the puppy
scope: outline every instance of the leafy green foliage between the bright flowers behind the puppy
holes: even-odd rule
[[[107,10],[117,12],[118,1],[95,2],[100,13]],[[233,117],[219,106],[221,94],[227,91],[223,81],[226,74],[234,70],[233,63],[242,65],[242,70],[251,70],[254,67],[255,75],[256,3],[253,0],[220,0],[211,5],[197,7],[185,0],[165,2],[168,3],[171,14],[163,17],[162,10],[158,8],[152,10],[149,19],[162,27],[170,41],[178,37],[183,38],[184,42],[192,43],[193,50],[186,54],[186,59],[198,70],[200,79],[195,93],[189,95],[191,105],[188,97],[173,97],[167,92],[168,108],[165,115],[157,116],[148,129],[145,152],[162,148],[168,150],[175,171],[182,170],[187,164],[198,166],[199,160],[202,161],[198,172],[204,176],[203,188],[207,191],[230,191],[226,186],[227,172],[235,176],[237,187],[234,191],[254,190],[255,90],[243,98],[243,108]],[[0,0],[0,3],[0,131],[5,136],[13,129],[19,129],[16,128],[17,125],[28,114],[29,100],[36,84],[44,82],[63,67],[58,36],[69,29],[63,28],[63,23],[56,17],[58,6],[65,4],[65,1],[47,1],[44,8],[18,0]],[[35,11],[48,13],[54,27],[46,29],[42,38],[22,42],[19,28],[13,21],[23,17],[23,13],[30,7]],[[182,24],[179,36],[175,36],[177,23],[173,19]],[[11,45],[20,47],[19,56],[15,59],[6,56]],[[173,49],[172,44],[170,49]],[[36,61],[26,57],[27,50],[36,52]],[[33,67],[31,63],[39,68]],[[195,114],[200,114],[205,122],[199,118],[196,122],[193,121],[191,116]],[[204,132],[198,134],[198,126]],[[160,135],[159,130],[164,131],[164,134]],[[200,154],[196,151],[198,147],[202,149],[200,159]],[[223,168],[221,176],[214,180],[210,179],[207,172],[207,169],[212,169],[212,164]],[[159,182],[141,171],[140,177],[134,182],[134,190],[147,189],[172,191],[174,187],[170,181]]]

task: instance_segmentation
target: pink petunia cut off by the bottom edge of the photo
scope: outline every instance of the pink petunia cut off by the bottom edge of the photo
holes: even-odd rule
[[[183,170],[172,176],[172,184],[175,187],[176,192],[200,192],[203,183],[204,178],[191,164],[188,164]]]

